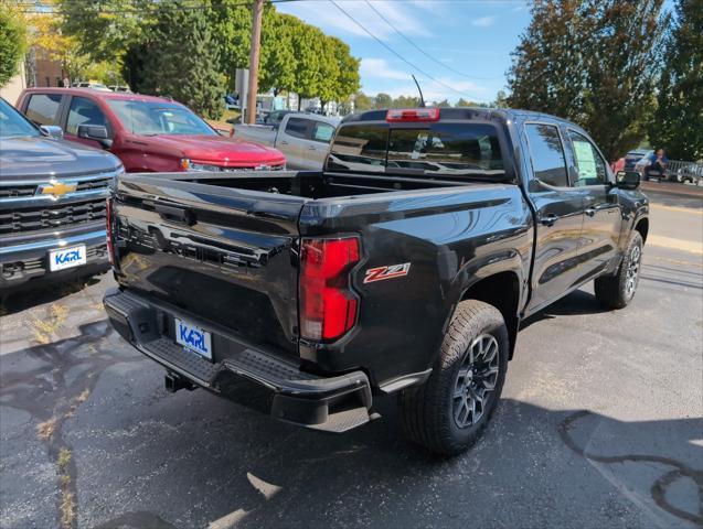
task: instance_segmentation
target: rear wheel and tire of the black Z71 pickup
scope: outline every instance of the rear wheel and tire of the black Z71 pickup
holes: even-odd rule
[[[500,399],[508,352],[508,328],[498,309],[477,300],[461,302],[432,375],[398,397],[406,436],[441,455],[471,446]]]

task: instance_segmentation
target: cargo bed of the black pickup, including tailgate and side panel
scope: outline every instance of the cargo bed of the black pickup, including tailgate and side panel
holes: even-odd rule
[[[476,248],[491,241],[501,259],[528,258],[500,255],[515,241],[501,242],[497,226],[514,238],[514,227],[530,223],[512,184],[334,172],[129,174],[118,183],[113,214],[123,289],[323,373],[353,368],[338,353],[354,347],[356,361],[373,366],[380,377],[374,384],[400,370],[384,365],[384,349],[435,347],[459,267],[492,258]],[[476,242],[468,241],[469,229]],[[307,344],[298,328],[301,240],[354,235],[363,257],[352,282],[366,300],[359,321],[365,332],[330,346]],[[526,230],[520,237],[530,251]],[[414,257],[407,280],[363,284],[362,266],[400,264],[408,256]],[[396,311],[398,292],[417,303],[409,317]],[[386,335],[396,328],[397,336],[376,343],[381,321]],[[423,325],[433,332],[412,331]],[[173,322],[167,319],[163,332],[172,335]],[[216,338],[213,345],[222,355],[232,353]],[[425,355],[407,359],[405,373],[426,369]]]

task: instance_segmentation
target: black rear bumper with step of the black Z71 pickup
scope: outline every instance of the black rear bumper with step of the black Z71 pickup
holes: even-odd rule
[[[131,292],[110,290],[104,298],[105,310],[115,330],[149,358],[161,364],[171,377],[233,397],[237,380],[247,380],[268,392],[266,411],[271,417],[301,427],[343,432],[369,422],[372,396],[363,371],[321,377],[300,370],[299,366],[275,352],[246,344],[227,331],[192,314],[146,300]],[[192,353],[173,339],[173,319],[201,325],[212,333],[215,359]],[[217,346],[226,350],[217,355]],[[234,398],[241,401],[241,399]],[[241,401],[249,406],[251,399]],[[258,406],[251,406],[256,408]]]

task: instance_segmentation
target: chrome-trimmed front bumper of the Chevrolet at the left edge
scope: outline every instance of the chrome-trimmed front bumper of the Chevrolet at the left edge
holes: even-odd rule
[[[86,263],[56,272],[50,271],[49,251],[55,248],[85,245]],[[105,229],[79,234],[36,234],[0,241],[0,292],[8,293],[22,288],[55,282],[79,276],[104,272],[109,269]]]

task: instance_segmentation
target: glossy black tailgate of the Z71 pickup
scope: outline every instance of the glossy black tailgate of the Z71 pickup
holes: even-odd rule
[[[113,204],[117,280],[198,323],[297,356],[297,225],[305,202],[128,175]]]

